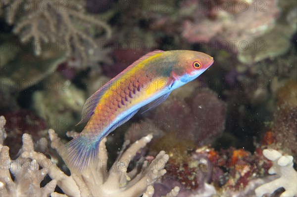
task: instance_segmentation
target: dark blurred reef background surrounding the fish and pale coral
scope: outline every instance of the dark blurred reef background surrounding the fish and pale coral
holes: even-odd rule
[[[150,163],[160,151],[168,154],[166,174],[151,184],[150,196],[174,187],[179,194],[171,196],[180,197],[297,196],[296,0],[1,0],[1,149],[9,147],[11,159],[24,157],[22,136],[30,134],[35,150],[70,175],[50,146],[49,129],[69,141],[67,131],[85,126],[76,124],[87,98],[155,49],[200,51],[214,63],[110,133],[107,169],[127,140],[152,134],[127,167],[129,172],[140,159]],[[278,158],[263,150],[277,150],[290,166],[270,175]],[[9,185],[5,177],[17,183],[24,176],[9,169],[0,176],[0,193]],[[272,191],[255,192],[278,179]],[[45,175],[39,184],[52,180]],[[57,183],[54,191],[66,194]],[[132,194],[144,194],[147,185],[141,187]]]

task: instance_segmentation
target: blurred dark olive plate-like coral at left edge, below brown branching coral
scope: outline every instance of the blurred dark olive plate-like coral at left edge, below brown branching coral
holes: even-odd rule
[[[32,53],[34,46],[28,42],[21,43],[15,37],[4,37],[0,43],[0,58],[6,59],[1,64],[0,73],[3,81],[1,91],[4,94],[8,91],[20,92],[32,86],[37,88],[40,85],[39,82],[51,75],[59,64],[66,61],[65,51],[56,50],[54,47],[49,47],[39,56],[35,56]],[[11,54],[13,57],[9,57]],[[35,62],[34,66],[32,61]]]

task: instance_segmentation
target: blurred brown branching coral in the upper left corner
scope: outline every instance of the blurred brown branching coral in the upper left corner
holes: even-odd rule
[[[106,38],[111,35],[106,23],[86,14],[84,0],[3,0],[0,8],[21,41],[33,41],[36,55],[49,47],[68,56],[76,50],[86,65],[88,52],[97,48],[92,31],[103,29]],[[93,46],[90,51],[86,51],[86,44]]]

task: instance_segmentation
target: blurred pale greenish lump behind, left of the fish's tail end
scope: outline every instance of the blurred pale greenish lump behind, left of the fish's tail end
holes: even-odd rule
[[[77,88],[71,80],[54,73],[45,81],[45,88],[32,94],[34,112],[47,120],[48,129],[57,130],[60,136],[71,130],[80,119],[81,109],[86,100],[85,92]]]

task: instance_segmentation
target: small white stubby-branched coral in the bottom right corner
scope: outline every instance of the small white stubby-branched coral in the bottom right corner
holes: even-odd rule
[[[293,168],[293,157],[282,156],[276,150],[263,150],[263,155],[273,161],[273,165],[269,168],[269,174],[277,174],[280,178],[263,184],[255,189],[257,197],[264,194],[272,194],[278,188],[283,187],[286,191],[281,194],[281,197],[296,197],[297,196],[297,172]]]

